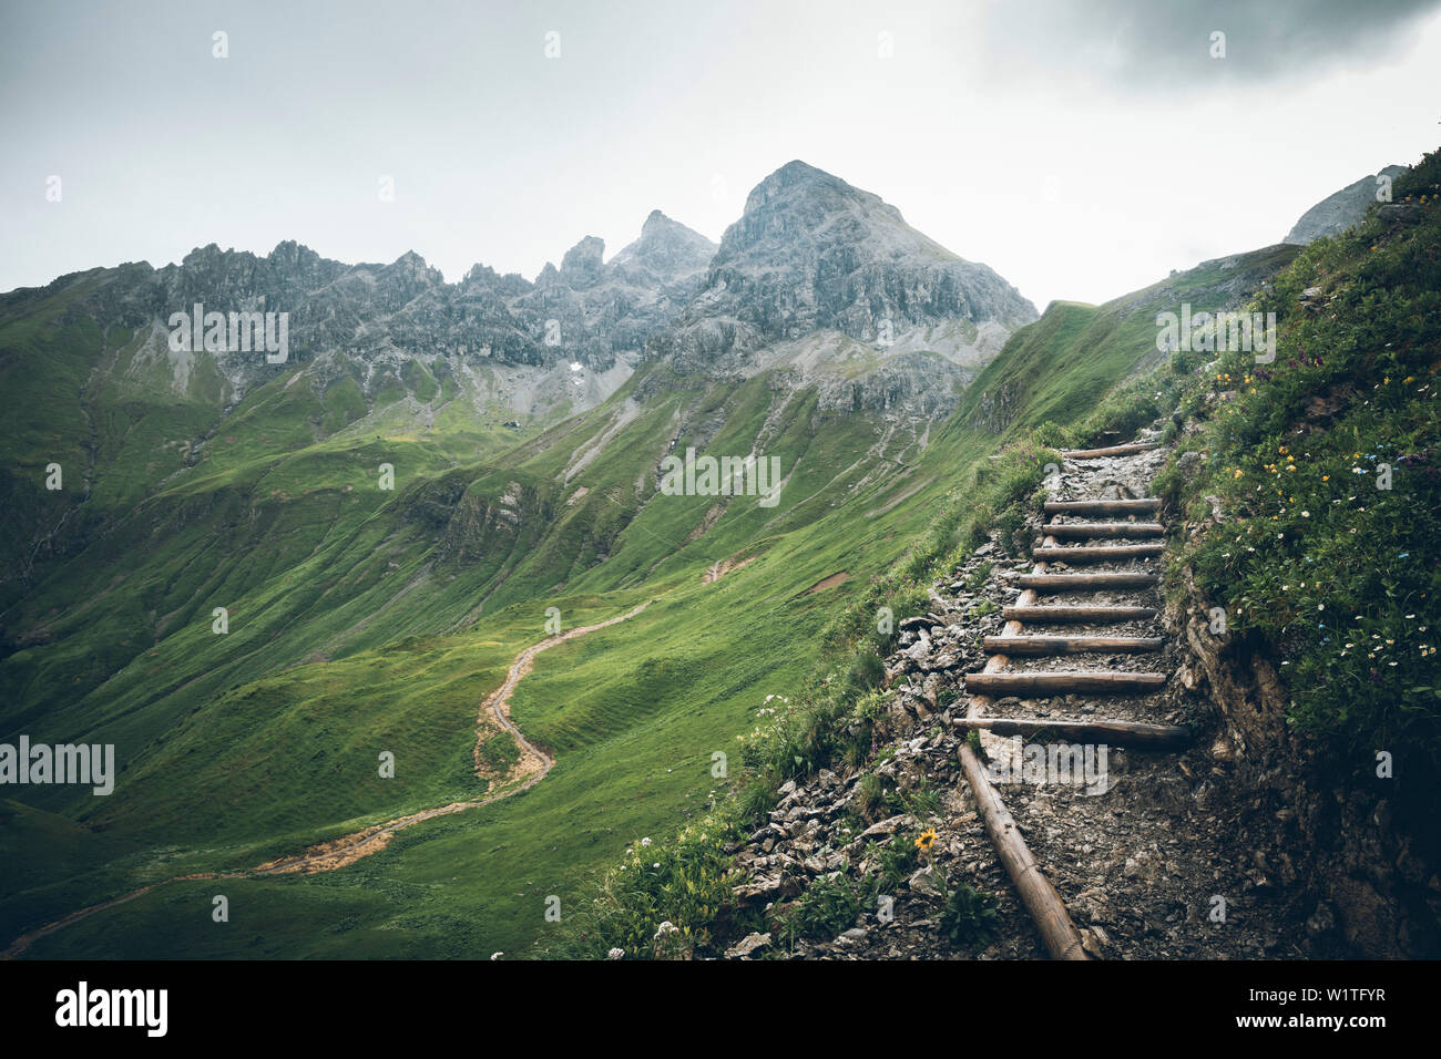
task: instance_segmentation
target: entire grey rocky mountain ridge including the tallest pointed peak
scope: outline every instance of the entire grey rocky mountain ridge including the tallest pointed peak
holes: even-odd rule
[[[294,242],[267,256],[212,243],[179,265],[130,264],[16,291],[0,310],[71,287],[84,292],[68,318],[140,331],[137,359],[169,375],[179,396],[219,376],[225,409],[295,363],[321,388],[349,376],[373,405],[415,360],[477,409],[499,403],[543,419],[594,408],[659,357],[712,377],[782,369],[781,388],[814,386],[827,411],[919,426],[953,411],[1010,333],[1036,320],[994,271],[801,161],[751,192],[719,248],[654,210],[611,261],[585,236],[535,282],[476,265],[447,284],[414,252],[346,265]],[[288,362],[169,350],[170,314],[196,304],[287,313]],[[435,408],[419,403],[412,412],[428,425]]]

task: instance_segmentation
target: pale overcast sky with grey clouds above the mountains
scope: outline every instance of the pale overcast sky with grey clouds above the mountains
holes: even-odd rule
[[[1409,1],[10,3],[0,290],[284,239],[533,278],[657,207],[719,241],[803,158],[1104,301],[1437,147],[1438,71]]]

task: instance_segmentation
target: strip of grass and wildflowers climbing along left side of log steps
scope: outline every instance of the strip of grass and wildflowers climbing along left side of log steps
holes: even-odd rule
[[[1157,353],[1157,311],[1187,300],[1197,310],[1238,307],[1295,254],[1275,246],[1208,262],[1101,307],[1055,303],[1019,330],[940,431],[941,444],[973,438],[993,451],[953,470],[955,484],[937,500],[925,532],[827,625],[824,653],[806,680],[768,684],[775,697],[755,702],[754,723],[738,736],[744,772],[731,797],[673,840],[633,843],[620,864],[597,879],[582,915],[549,951],[599,958],[618,949],[627,958],[650,958],[669,944],[713,957],[751,931],[771,931],[761,909],[735,898],[741,877],[733,852],[765,821],[787,782],[829,768],[852,774],[876,761],[878,738],[883,743],[893,735],[880,680],[882,658],[896,645],[896,622],[929,609],[932,582],[963,566],[996,530],[1004,548],[1016,548],[1013,532],[1039,501],[1045,467],[1061,458],[1056,447],[1089,444],[1107,432],[1127,435],[1170,414],[1199,386],[1193,369]],[[876,791],[878,804],[895,813],[934,808],[927,803],[934,797],[925,790]],[[896,843],[892,852],[905,849]],[[859,889],[843,879],[814,885],[782,924],[780,948],[769,951],[785,951],[806,932],[834,937],[853,925],[882,882],[893,886],[902,867],[882,859]],[[980,929],[981,898],[965,889],[953,898],[947,929]],[[661,922],[674,928],[669,942],[656,937]]]

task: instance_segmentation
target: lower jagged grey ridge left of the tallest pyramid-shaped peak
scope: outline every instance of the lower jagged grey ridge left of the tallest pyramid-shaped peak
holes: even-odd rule
[[[561,388],[571,398],[589,396],[572,402],[589,406],[624,382],[646,339],[695,294],[715,245],[656,210],[640,239],[615,261],[605,264],[604,249],[601,239],[586,236],[565,254],[559,269],[546,265],[533,284],[486,265],[447,284],[415,252],[389,265],[346,265],[294,242],[280,243],[267,256],[212,243],[160,269],[141,262],[61,277],[43,291],[4,295],[0,308],[84,284],[88,290],[72,301],[68,318],[88,316],[102,326],[148,329],[153,359],[170,353],[170,314],[189,313],[195,304],[208,313],[288,313],[288,363],[340,357],[359,365],[367,395],[383,375],[378,366],[398,373],[411,357],[448,362],[442,375],[455,375],[460,365],[542,372],[579,365],[592,376],[610,376],[588,395]],[[226,380],[226,405],[288,370],[254,352],[196,352],[177,363],[182,389],[195,357],[213,359]],[[525,382],[533,383],[535,373]]]

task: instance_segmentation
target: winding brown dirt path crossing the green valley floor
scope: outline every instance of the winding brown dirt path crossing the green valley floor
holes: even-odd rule
[[[110,901],[102,901],[98,905],[91,905],[82,908],[76,912],[56,919],[53,924],[36,928],[29,934],[22,934],[16,938],[10,947],[0,952],[0,960],[13,960],[14,957],[24,952],[30,945],[33,945],[40,938],[55,934],[56,931],[78,924],[81,919],[88,919],[89,916],[104,912],[105,909],[115,908],[117,905],[124,905],[125,902],[134,901],[135,898],[143,898],[160,886],[166,886],[173,882],[197,882],[206,879],[254,879],[258,876],[271,875],[314,875],[317,872],[334,872],[337,867],[344,867],[346,864],[353,864],[362,857],[367,857],[372,853],[379,853],[389,843],[391,839],[403,831],[406,827],[414,827],[425,820],[434,820],[435,817],[450,816],[452,813],[464,813],[465,810],[480,808],[481,805],[488,805],[493,801],[500,801],[501,798],[509,798],[522,791],[527,791],[537,782],[545,779],[546,774],[555,767],[555,759],[545,751],[539,749],[516,728],[514,722],[510,719],[510,696],[514,693],[516,686],[520,680],[535,669],[535,658],[540,651],[545,651],[556,644],[563,644],[566,640],[575,640],[576,637],[586,635],[588,633],[595,633],[597,630],[607,628],[610,625],[617,625],[623,621],[634,618],[637,614],[650,607],[651,601],[643,602],[625,614],[621,614],[607,621],[597,622],[595,625],[581,625],[572,628],[568,633],[561,633],[542,640],[537,644],[520,651],[516,660],[510,663],[510,671],[506,673],[504,682],[491,692],[480,705],[480,712],[476,715],[476,746],[471,751],[471,758],[476,764],[476,774],[480,775],[480,746],[486,735],[487,719],[486,713],[496,719],[496,722],[514,738],[516,743],[520,746],[520,761],[516,768],[510,771],[510,779],[519,779],[520,782],[514,785],[507,785],[506,790],[491,794],[486,798],[478,798],[476,801],[452,801],[448,805],[440,805],[437,808],[422,810],[419,813],[411,813],[409,816],[396,817],[383,824],[376,824],[375,827],[367,827],[354,834],[347,834],[342,839],[334,839],[331,841],[318,843],[310,846],[308,849],[294,853],[288,857],[280,857],[277,860],[267,860],[264,864],[258,864],[246,872],[200,872],[197,875],[177,875],[171,879],[161,879],[160,882],[147,883],[140,886],[130,893],[122,893],[118,898],[111,898]]]

